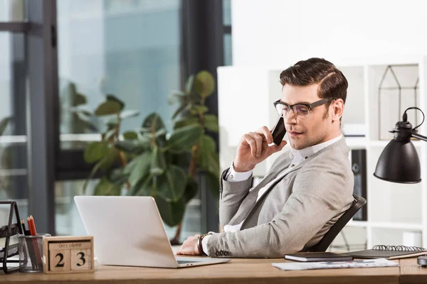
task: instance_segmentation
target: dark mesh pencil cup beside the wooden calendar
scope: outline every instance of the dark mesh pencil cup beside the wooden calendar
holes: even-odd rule
[[[43,272],[43,237],[50,234],[36,236],[19,235],[19,271]]]

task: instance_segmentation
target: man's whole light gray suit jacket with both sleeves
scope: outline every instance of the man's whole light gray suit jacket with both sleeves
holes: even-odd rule
[[[221,176],[221,226],[243,222],[240,231],[213,234],[209,256],[282,258],[317,244],[353,202],[354,177],[344,137],[311,155],[271,185],[286,170],[289,151],[280,155],[265,178],[251,189],[251,178],[227,182]],[[251,189],[251,190],[250,190]]]

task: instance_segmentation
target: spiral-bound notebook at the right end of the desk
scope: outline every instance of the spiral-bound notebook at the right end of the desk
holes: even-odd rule
[[[423,256],[427,254],[427,249],[418,246],[374,246],[372,249],[364,251],[350,251],[343,253],[346,256],[353,256],[354,258],[411,258],[414,256]]]

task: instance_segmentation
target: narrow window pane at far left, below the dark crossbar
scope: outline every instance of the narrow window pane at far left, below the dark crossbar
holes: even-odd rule
[[[16,200],[24,217],[29,191],[23,43],[23,34],[0,32],[0,200]]]

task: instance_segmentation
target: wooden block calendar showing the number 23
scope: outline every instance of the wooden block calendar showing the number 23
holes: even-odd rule
[[[50,236],[43,239],[44,273],[95,271],[93,236]]]

